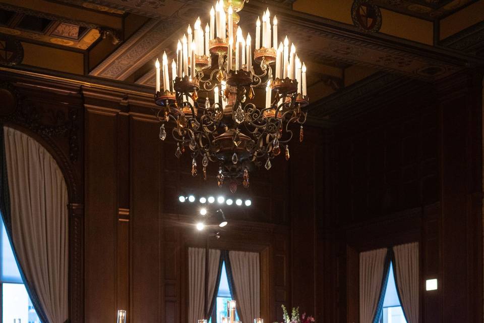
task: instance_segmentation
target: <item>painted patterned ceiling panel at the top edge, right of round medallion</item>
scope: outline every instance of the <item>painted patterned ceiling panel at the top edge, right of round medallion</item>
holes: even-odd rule
[[[385,9],[405,15],[435,20],[455,13],[476,0],[373,0]]]

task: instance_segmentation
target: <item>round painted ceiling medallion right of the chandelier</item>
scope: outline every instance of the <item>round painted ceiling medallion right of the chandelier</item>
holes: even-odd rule
[[[380,8],[371,0],[354,0],[351,6],[351,19],[362,31],[377,32],[382,27]]]

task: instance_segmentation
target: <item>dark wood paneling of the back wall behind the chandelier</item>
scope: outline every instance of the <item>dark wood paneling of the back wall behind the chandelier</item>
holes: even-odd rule
[[[205,238],[194,226],[198,203],[180,203],[179,194],[251,198],[251,207],[223,207],[229,225],[219,240],[210,238],[210,247],[260,252],[266,320],[281,320],[282,304],[315,311],[321,130],[305,129],[305,141],[290,145],[289,161],[281,153],[269,172],[261,167],[251,174],[248,190],[231,194],[228,183],[217,187],[216,165],[204,182],[201,160],[193,177],[190,154],[178,160],[173,139],[158,139],[151,97],[87,87],[82,93],[89,158],[86,322],[111,321],[118,308],[132,322],[186,321],[187,250],[204,247]]]

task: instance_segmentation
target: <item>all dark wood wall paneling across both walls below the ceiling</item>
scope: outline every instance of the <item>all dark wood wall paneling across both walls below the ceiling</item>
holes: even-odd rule
[[[186,252],[205,239],[194,233],[196,210],[177,196],[228,194],[215,187],[217,168],[207,183],[191,176],[188,153],[177,160],[175,143],[157,139],[149,95],[6,79],[41,119],[2,121],[30,128],[67,160],[71,233],[84,237],[72,254],[71,285],[84,285],[84,299],[71,296],[73,321],[114,321],[118,308],[133,322],[186,321]],[[37,127],[58,127],[55,116],[76,109],[70,132]],[[286,304],[319,320],[357,322],[358,253],[419,241],[422,321],[481,320],[480,75],[448,78],[332,129],[306,129],[305,142],[290,149],[289,163],[281,154],[270,172],[251,176],[248,191],[239,188],[253,207],[224,209],[230,225],[210,240],[261,253],[264,318],[280,320]],[[437,291],[424,290],[428,278],[439,279]]]

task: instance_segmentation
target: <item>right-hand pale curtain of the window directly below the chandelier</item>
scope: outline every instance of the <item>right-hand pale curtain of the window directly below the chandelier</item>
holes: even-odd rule
[[[261,275],[259,253],[229,251],[238,315],[251,322],[261,313]]]

